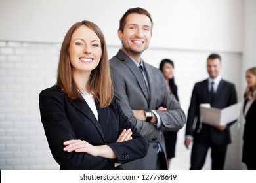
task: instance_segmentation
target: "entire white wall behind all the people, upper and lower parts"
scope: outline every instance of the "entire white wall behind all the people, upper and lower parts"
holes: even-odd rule
[[[175,61],[175,80],[187,114],[194,83],[207,77],[205,59],[211,52],[223,57],[223,77],[236,84],[242,101],[244,71],[255,65],[255,2],[0,0],[0,169],[58,169],[40,121],[38,96],[56,82],[60,42],[74,22],[98,24],[111,58],[121,45],[119,18],[128,8],[146,8],[154,29],[143,58],[156,67],[163,58]],[[241,135],[242,127],[233,125],[225,169],[245,169]],[[189,161],[181,129],[171,169],[188,169]],[[208,156],[203,168],[210,169],[210,163]]]

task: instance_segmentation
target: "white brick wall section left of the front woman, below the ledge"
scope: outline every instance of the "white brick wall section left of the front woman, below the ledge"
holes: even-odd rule
[[[0,169],[58,169],[38,106],[54,84],[60,44],[0,41]]]

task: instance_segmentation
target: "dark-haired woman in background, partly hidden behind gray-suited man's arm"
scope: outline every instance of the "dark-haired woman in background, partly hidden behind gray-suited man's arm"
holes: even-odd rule
[[[163,72],[163,76],[165,77],[165,81],[167,84],[167,88],[169,92],[175,95],[177,101],[179,101],[179,97],[177,94],[177,86],[173,77],[173,69],[174,63],[170,59],[163,59],[160,63],[159,69]],[[170,166],[171,158],[175,157],[175,146],[177,141],[177,132],[178,131],[163,131],[163,135],[165,137],[165,147],[167,154],[167,165]]]

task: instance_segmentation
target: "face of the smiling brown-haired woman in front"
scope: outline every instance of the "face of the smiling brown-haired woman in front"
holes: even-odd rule
[[[98,66],[102,49],[100,39],[89,27],[82,25],[72,34],[70,60],[74,73],[91,73]]]

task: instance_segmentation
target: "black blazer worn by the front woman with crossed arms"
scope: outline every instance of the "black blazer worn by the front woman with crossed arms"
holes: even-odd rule
[[[58,86],[43,90],[39,95],[41,121],[53,158],[60,169],[115,169],[114,163],[127,163],[147,154],[148,142],[128,121],[115,99],[99,108],[98,121],[84,99],[70,102]],[[116,143],[123,129],[133,131],[133,140]],[[116,159],[91,156],[87,153],[64,152],[63,142],[81,139],[94,146],[107,144]]]

